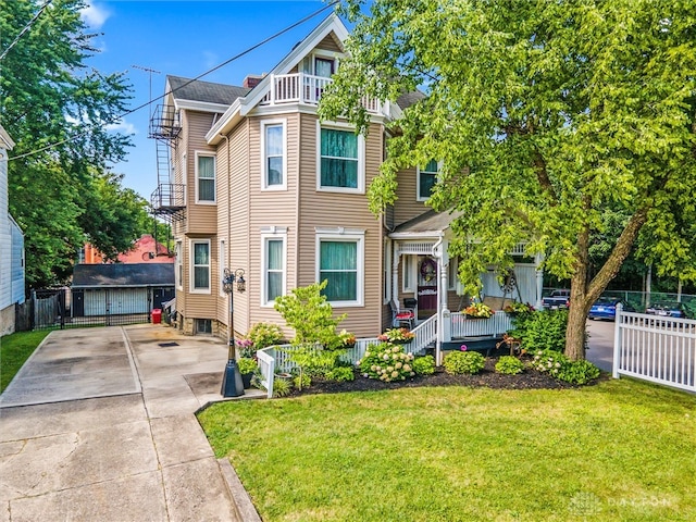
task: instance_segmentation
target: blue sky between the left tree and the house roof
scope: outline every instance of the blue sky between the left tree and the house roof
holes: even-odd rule
[[[126,72],[134,95],[130,107],[135,108],[150,99],[150,74],[134,65],[160,72],[151,74],[152,96],[157,97],[164,92],[167,74],[196,77],[323,5],[319,0],[94,0],[83,20],[101,34],[95,42],[101,52],[87,63],[104,74]],[[201,79],[241,85],[248,74],[270,71],[330,12]],[[125,174],[124,186],[149,200],[157,186],[157,165],[154,140],[147,137],[148,121],[149,109],[145,108],[117,125],[133,134],[134,147],[114,171]]]

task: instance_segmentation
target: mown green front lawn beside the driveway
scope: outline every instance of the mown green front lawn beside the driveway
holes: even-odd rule
[[[403,388],[199,414],[264,521],[696,520],[696,396]]]

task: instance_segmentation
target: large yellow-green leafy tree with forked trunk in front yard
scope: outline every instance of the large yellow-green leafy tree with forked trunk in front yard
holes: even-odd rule
[[[642,229],[644,254],[663,274],[696,276],[696,1],[345,8],[356,22],[350,58],[322,115],[347,114],[364,130],[364,96],[426,94],[394,122],[369,195],[380,212],[395,201],[399,169],[440,161],[430,204],[463,211],[450,252],[469,288],[526,243],[571,281],[566,352],[582,359],[587,311]],[[591,276],[591,237],[608,210],[626,220]]]

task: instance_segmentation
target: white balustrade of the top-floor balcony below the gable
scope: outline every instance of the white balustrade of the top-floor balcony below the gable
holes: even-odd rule
[[[271,75],[271,89],[261,100],[261,104],[307,103],[318,105],[324,88],[332,82],[331,78],[306,73]],[[362,103],[368,112],[380,113],[381,103],[375,98],[364,98]]]

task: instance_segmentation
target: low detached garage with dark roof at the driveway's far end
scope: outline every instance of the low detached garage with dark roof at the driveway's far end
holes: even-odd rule
[[[149,314],[174,297],[174,265],[77,264],[71,293],[73,318]]]

